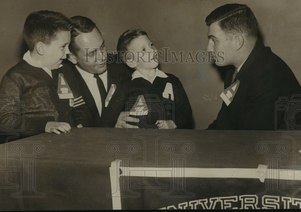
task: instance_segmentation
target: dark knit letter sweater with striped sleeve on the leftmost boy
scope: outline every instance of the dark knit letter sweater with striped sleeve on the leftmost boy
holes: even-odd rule
[[[58,74],[63,73],[74,99],[60,99]],[[42,68],[22,60],[3,76],[0,85],[1,130],[16,131],[21,137],[45,133],[48,121],[67,122],[71,127],[87,126],[85,102],[72,73],[61,68],[51,70],[52,78]]]

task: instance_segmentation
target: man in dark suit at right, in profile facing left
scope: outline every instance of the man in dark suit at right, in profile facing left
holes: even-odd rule
[[[208,129],[300,128],[296,115],[300,108],[289,112],[294,117],[287,110],[292,95],[301,94],[300,85],[287,64],[258,40],[258,24],[250,8],[225,4],[205,21],[209,26],[207,51],[214,52],[216,65],[234,66],[225,75],[222,108]],[[279,100],[284,102],[276,108]]]

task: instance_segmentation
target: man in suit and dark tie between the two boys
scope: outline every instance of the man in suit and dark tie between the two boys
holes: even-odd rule
[[[110,89],[114,90],[114,85],[118,87],[131,71],[116,57],[118,55],[107,55],[104,39],[91,19],[74,16],[70,21],[73,29],[68,59],[72,63],[64,64],[63,67],[73,71],[79,84],[89,108],[89,127],[98,127],[100,117],[105,112],[106,101],[111,96]],[[126,120],[137,122],[122,112],[115,127],[126,127]]]

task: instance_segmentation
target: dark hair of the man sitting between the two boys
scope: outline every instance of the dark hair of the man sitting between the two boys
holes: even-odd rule
[[[80,47],[76,44],[75,38],[81,33],[92,32],[96,24],[89,18],[84,16],[73,16],[70,18],[73,26],[71,30],[71,40],[69,43],[69,50],[73,55],[77,55]],[[97,27],[96,27],[97,28]]]

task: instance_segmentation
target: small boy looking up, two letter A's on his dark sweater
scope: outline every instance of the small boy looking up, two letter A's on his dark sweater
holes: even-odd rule
[[[118,39],[117,51],[123,63],[134,68],[116,88],[102,119],[102,127],[114,127],[122,111],[139,118],[139,129],[189,128],[191,106],[180,80],[160,71],[158,52],[147,33],[125,31]]]

